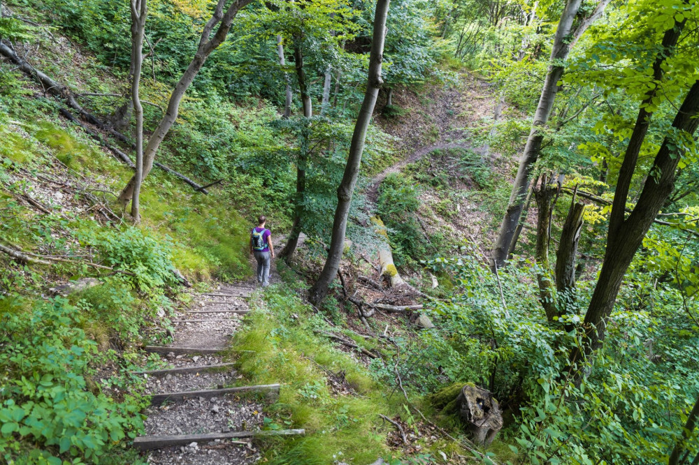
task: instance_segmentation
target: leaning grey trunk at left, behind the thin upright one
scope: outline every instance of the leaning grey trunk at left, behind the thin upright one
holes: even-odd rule
[[[196,74],[199,73],[199,70],[201,70],[201,67],[211,52],[215,50],[216,47],[221,45],[221,43],[223,43],[223,41],[226,39],[226,36],[228,36],[228,33],[231,30],[233,19],[238,14],[240,8],[244,8],[251,1],[252,0],[233,1],[231,6],[229,6],[225,12],[224,6],[226,0],[217,1],[213,15],[211,16],[210,20],[206,22],[204,29],[201,32],[201,39],[199,40],[199,47],[197,47],[196,54],[194,54],[192,62],[189,64],[189,66],[187,66],[187,70],[182,73],[182,77],[180,77],[178,83],[175,84],[175,89],[173,89],[173,93],[170,96],[170,101],[168,101],[168,108],[165,115],[163,119],[161,119],[160,124],[158,124],[158,127],[155,128],[155,131],[153,131],[150,139],[148,140],[148,144],[143,151],[144,179],[153,168],[155,155],[157,154],[161,142],[167,135],[168,131],[170,131],[170,128],[178,117],[180,101],[182,101],[182,97],[185,95],[189,84],[192,84],[194,77],[196,77]],[[219,27],[216,33],[211,36],[211,31],[216,24],[219,24]],[[124,190],[119,195],[119,201],[122,203],[122,205],[127,205],[129,200],[131,200],[133,197],[135,184],[136,178],[134,175],[134,177],[131,177],[127,185],[124,187]]]

